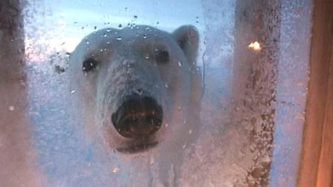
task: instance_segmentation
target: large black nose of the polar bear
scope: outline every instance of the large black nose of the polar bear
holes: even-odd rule
[[[133,95],[112,114],[117,132],[126,138],[150,136],[162,125],[163,110],[154,98]]]

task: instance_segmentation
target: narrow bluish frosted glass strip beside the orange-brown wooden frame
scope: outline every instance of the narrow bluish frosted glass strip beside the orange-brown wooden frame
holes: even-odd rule
[[[282,1],[271,186],[296,186],[309,80],[312,1]]]

